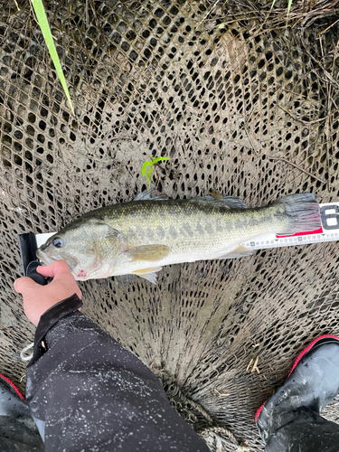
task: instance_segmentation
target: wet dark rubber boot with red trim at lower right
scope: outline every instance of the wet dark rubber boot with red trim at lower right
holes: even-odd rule
[[[321,336],[299,355],[287,381],[257,412],[266,451],[339,451],[339,426],[319,415],[338,392],[339,338]]]

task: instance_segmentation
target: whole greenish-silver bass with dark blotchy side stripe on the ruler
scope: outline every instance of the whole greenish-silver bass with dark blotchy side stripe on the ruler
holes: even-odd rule
[[[85,213],[47,240],[36,256],[42,264],[66,260],[76,280],[137,275],[155,284],[166,265],[241,258],[252,253],[241,243],[261,234],[320,227],[313,193],[290,194],[255,208],[231,196],[139,195]]]

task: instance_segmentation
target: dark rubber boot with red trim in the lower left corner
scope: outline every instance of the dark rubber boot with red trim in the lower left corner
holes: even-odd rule
[[[43,442],[24,396],[0,374],[1,452],[42,452]]]

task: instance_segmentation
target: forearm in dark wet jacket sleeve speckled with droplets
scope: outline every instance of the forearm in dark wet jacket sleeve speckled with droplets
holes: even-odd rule
[[[27,402],[45,421],[46,450],[208,450],[144,363],[76,303],[65,316],[58,305],[42,315],[37,341],[46,349],[35,344],[27,367]],[[52,327],[43,335],[47,317]]]

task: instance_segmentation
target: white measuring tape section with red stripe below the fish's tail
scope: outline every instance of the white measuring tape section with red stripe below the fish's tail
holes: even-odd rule
[[[293,235],[263,234],[242,243],[250,250],[290,247],[339,240],[339,202],[319,204],[322,227],[316,231],[297,232]]]

